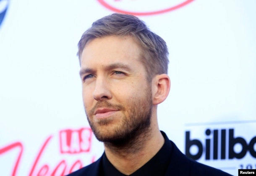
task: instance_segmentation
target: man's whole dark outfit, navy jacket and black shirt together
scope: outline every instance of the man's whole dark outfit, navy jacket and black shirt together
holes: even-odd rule
[[[219,169],[198,163],[185,156],[162,132],[165,143],[159,152],[131,176],[231,176]],[[105,175],[104,175],[105,174]],[[68,176],[124,176],[107,160],[105,154],[90,165]]]

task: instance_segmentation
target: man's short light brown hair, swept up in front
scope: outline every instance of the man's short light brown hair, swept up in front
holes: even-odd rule
[[[144,64],[149,82],[155,75],[168,72],[168,48],[166,42],[154,34],[136,16],[113,13],[92,23],[78,42],[78,58],[81,64],[81,54],[86,43],[104,36],[131,36],[141,47],[141,62]]]

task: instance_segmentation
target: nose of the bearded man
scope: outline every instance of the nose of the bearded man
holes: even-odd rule
[[[104,80],[103,78],[97,78],[93,92],[93,98],[97,101],[112,98],[110,85],[107,80]]]

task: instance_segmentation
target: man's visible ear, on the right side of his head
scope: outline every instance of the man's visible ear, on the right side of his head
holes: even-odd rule
[[[152,80],[153,105],[165,101],[171,87],[171,80],[167,74],[156,75]]]

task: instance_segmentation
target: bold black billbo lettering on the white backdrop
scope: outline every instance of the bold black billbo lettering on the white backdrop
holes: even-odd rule
[[[228,134],[227,134],[228,133]],[[185,155],[194,160],[201,158],[205,154],[205,160],[217,159],[241,159],[249,153],[256,158],[256,136],[246,141],[244,137],[235,136],[235,129],[206,129],[205,141],[191,139],[191,132],[185,132]],[[227,139],[227,140],[226,140]],[[235,150],[240,145],[241,149]],[[196,153],[191,152],[191,147],[196,147]]]

